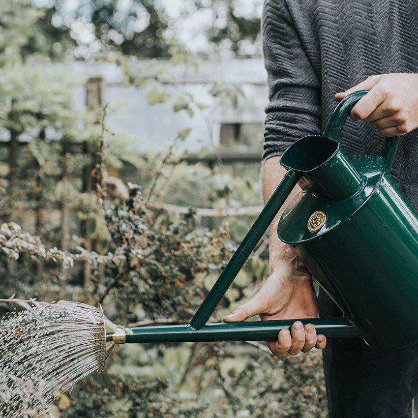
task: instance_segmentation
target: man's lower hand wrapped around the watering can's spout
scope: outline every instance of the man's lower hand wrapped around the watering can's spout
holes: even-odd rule
[[[300,262],[298,264],[295,267],[295,263],[284,262],[277,266],[260,291],[224,321],[244,321],[257,314],[262,320],[316,318],[317,304],[312,280],[308,271]],[[300,351],[306,353],[313,347],[323,349],[327,344],[324,335],[317,337],[312,324],[303,327],[300,321],[296,321],[291,332],[282,329],[277,341],[267,341],[275,356],[281,357],[286,353],[297,355]]]

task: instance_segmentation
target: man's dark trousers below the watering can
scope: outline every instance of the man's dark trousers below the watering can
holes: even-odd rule
[[[322,289],[318,308],[321,317],[341,315]],[[360,338],[328,339],[323,359],[330,418],[411,417],[418,393],[418,344],[388,352]]]

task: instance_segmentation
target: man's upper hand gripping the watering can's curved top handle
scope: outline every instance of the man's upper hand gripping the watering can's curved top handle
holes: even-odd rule
[[[370,92],[354,106],[352,119],[370,122],[384,136],[404,135],[418,127],[418,74],[372,75],[335,98],[358,90]]]

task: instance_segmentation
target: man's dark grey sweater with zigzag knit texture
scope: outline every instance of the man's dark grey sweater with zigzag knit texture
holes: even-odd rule
[[[266,0],[262,30],[265,159],[322,133],[336,92],[372,74],[418,72],[418,0]],[[383,137],[347,119],[340,142],[349,156],[378,154]],[[418,129],[401,138],[392,175],[418,209]]]

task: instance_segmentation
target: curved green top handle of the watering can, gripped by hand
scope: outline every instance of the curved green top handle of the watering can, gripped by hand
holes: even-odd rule
[[[354,105],[364,97],[369,91],[359,90],[347,95],[340,101],[338,106],[332,112],[327,127],[324,131],[324,136],[338,141],[341,130],[343,128],[345,119],[350,115]],[[396,150],[398,149],[399,137],[386,137],[383,144],[381,156],[385,162],[385,170],[387,172],[392,168],[393,160],[395,158]]]

